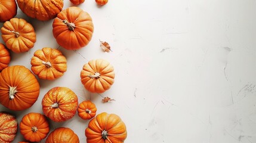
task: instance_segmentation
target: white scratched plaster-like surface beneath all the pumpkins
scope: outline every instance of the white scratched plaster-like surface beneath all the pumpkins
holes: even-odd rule
[[[64,0],[64,9],[70,6]],[[103,7],[86,0],[78,7],[93,19],[91,42],[76,52],[59,48],[67,58],[66,73],[39,80],[38,101],[11,111],[18,122],[27,113],[42,113],[47,91],[66,86],[79,102],[94,102],[97,113],[118,114],[127,125],[128,143],[256,142],[255,0],[109,0]],[[19,9],[16,17],[32,23],[37,41],[28,52],[11,52],[10,65],[30,69],[36,49],[58,48],[53,20],[28,18]],[[98,39],[109,42],[113,52],[103,52]],[[115,83],[101,94],[114,102],[103,104],[80,82],[82,66],[96,58],[115,68]],[[2,105],[0,110],[10,111]],[[73,129],[81,142],[87,125],[78,114],[50,122],[51,130]],[[14,142],[21,140],[18,132]]]

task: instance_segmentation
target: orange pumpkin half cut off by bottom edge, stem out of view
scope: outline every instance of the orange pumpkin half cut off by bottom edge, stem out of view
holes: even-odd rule
[[[69,128],[57,128],[51,132],[45,143],[79,143],[78,135]],[[96,142],[94,142],[96,143]]]

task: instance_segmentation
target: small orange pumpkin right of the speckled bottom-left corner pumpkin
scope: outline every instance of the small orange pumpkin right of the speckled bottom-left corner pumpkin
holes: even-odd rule
[[[24,139],[39,142],[49,133],[50,128],[46,117],[40,113],[26,114],[20,122],[20,133]]]

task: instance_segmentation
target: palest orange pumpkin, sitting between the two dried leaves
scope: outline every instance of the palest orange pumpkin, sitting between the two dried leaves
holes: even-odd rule
[[[102,93],[113,85],[115,72],[108,61],[97,59],[84,65],[80,77],[85,89],[90,92]]]

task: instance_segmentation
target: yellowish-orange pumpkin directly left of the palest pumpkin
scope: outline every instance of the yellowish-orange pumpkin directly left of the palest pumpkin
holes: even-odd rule
[[[31,70],[40,79],[54,80],[67,70],[66,57],[58,49],[48,47],[35,51],[30,63]]]

